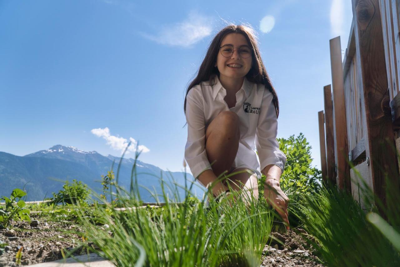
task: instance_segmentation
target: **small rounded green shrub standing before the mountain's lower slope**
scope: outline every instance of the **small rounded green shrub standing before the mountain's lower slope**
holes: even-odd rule
[[[54,192],[52,197],[53,204],[84,204],[84,200],[86,200],[89,196],[88,186],[86,184],[82,184],[81,181],[76,181],[76,179],[72,180],[72,184],[68,181],[65,181],[65,184],[62,186],[62,190],[60,190],[57,194]]]

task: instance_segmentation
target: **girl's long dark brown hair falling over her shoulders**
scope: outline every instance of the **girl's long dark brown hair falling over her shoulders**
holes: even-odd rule
[[[190,83],[188,88],[186,89],[185,95],[185,103],[184,103],[184,113],[186,114],[186,96],[189,93],[189,90],[192,89],[195,85],[200,84],[202,81],[210,81],[214,75],[220,75],[218,68],[215,67],[215,61],[218,55],[218,51],[220,49],[222,39],[230,33],[240,33],[247,39],[250,47],[253,50],[252,53],[252,67],[250,71],[246,74],[246,78],[248,81],[253,83],[261,83],[264,84],[265,87],[272,93],[273,95],[273,103],[275,106],[276,117],[279,115],[279,102],[278,102],[278,95],[276,95],[275,89],[272,86],[270,77],[262,63],[262,59],[260,56],[260,51],[258,50],[257,40],[254,34],[254,30],[249,26],[245,25],[229,25],[220,30],[218,34],[212,40],[210,47],[207,50],[207,54],[204,57],[202,64],[198,70],[198,74],[196,78]],[[210,81],[210,84],[215,84],[215,81]]]

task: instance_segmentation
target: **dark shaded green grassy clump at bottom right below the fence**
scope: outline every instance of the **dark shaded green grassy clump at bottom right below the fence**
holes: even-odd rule
[[[309,242],[329,266],[400,266],[400,250],[394,246],[400,242],[398,194],[388,192],[388,202],[397,205],[385,209],[368,188],[362,193],[366,206],[372,209],[364,210],[352,196],[337,188],[304,195],[297,215],[316,239]],[[390,218],[391,225],[375,213],[378,207],[384,211],[383,216]]]

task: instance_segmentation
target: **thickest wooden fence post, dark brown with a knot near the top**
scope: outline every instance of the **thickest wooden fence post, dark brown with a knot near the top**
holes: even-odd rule
[[[388,79],[378,0],[352,0],[356,53],[361,61],[367,145],[374,193],[386,205],[386,181],[399,192],[399,173],[389,106]],[[398,204],[398,203],[397,203]]]

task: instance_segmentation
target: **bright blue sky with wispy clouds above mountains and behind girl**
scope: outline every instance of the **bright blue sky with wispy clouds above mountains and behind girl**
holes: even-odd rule
[[[0,151],[62,144],[120,156],[134,140],[143,162],[183,170],[185,89],[232,22],[258,32],[278,137],[302,132],[319,168],[329,39],[341,35],[344,50],[351,20],[350,0],[0,0]]]

